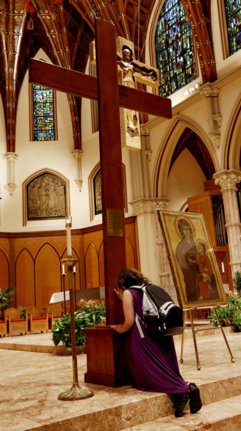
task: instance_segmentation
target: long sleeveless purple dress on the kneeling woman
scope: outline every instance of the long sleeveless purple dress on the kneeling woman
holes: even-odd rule
[[[134,310],[142,318],[142,292],[129,289],[133,296]],[[158,341],[145,334],[141,338],[136,322],[131,334],[133,387],[141,391],[175,394],[190,392],[188,383],[179,372],[177,356],[172,336],[159,337]]]

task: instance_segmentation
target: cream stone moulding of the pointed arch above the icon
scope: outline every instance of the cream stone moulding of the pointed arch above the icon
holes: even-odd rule
[[[176,115],[172,119],[171,124],[164,135],[163,144],[157,155],[152,181],[152,193],[154,197],[167,197],[167,180],[170,163],[175,148],[178,145],[179,138],[185,128],[192,130],[202,140],[205,145],[205,151],[209,154],[212,160],[214,171],[216,172],[220,169],[214,145],[210,141],[208,135],[190,118],[183,115]]]

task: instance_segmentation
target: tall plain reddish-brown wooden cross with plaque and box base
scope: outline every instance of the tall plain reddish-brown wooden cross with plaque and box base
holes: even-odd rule
[[[45,87],[98,100],[102,193],[104,281],[107,326],[86,329],[85,381],[108,386],[127,384],[122,360],[124,337],[109,324],[119,323],[122,307],[113,293],[116,277],[126,266],[124,188],[119,107],[171,118],[171,101],[118,83],[116,35],[112,24],[95,21],[97,78],[32,59],[30,81]],[[114,135],[113,135],[114,130]]]

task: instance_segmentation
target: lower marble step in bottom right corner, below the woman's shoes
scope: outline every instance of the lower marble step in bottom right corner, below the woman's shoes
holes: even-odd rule
[[[174,415],[161,417],[122,431],[240,431],[241,429],[241,395],[204,405],[195,414],[189,410],[182,417]]]

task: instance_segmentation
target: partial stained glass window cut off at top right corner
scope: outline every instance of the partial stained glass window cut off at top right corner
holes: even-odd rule
[[[241,48],[241,0],[225,0],[230,55]]]

